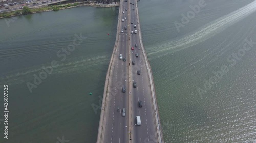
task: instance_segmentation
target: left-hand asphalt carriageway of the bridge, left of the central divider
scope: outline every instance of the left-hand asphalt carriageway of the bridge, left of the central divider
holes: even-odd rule
[[[121,5],[122,6],[122,5]],[[127,9],[126,6],[120,7],[121,11]],[[127,11],[125,13],[120,13],[121,19],[127,17]],[[121,21],[120,21],[121,22]],[[128,25],[127,19],[120,24],[119,39],[117,45],[116,55],[114,57],[114,67],[112,69],[111,76],[111,100],[108,101],[107,113],[106,113],[106,123],[108,124],[104,131],[104,142],[126,142],[128,137],[128,130],[125,126],[128,126],[128,81],[127,76],[125,76],[128,71],[128,30],[124,27]],[[123,29],[123,32],[121,30]],[[126,61],[119,59],[119,54],[122,54],[126,58]],[[122,86],[125,85],[126,92],[122,92]],[[117,111],[119,108],[119,112]],[[126,116],[122,116],[122,110],[125,108]]]

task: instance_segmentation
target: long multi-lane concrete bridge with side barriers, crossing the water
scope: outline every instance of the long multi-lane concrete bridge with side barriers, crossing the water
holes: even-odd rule
[[[141,125],[136,116],[140,116]],[[120,142],[164,142],[136,0],[120,1],[116,42],[106,75],[98,129],[97,143]]]

